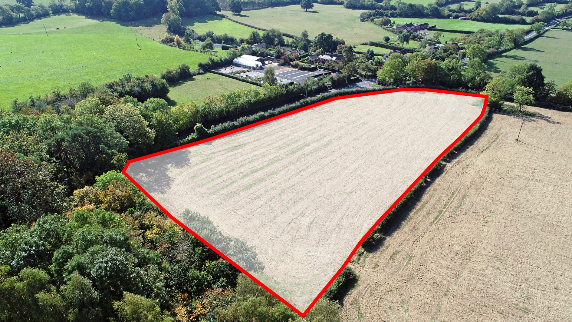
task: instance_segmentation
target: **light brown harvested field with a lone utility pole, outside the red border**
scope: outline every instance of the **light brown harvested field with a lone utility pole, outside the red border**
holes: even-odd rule
[[[343,321],[571,321],[572,113],[493,114],[349,264]]]

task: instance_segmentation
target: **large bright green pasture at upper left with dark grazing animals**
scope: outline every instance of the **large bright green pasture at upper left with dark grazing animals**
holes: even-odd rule
[[[97,85],[126,73],[160,74],[180,64],[194,69],[208,59],[141,35],[137,41],[140,47],[130,28],[74,14],[0,28],[0,107],[53,89],[67,91],[83,81]]]

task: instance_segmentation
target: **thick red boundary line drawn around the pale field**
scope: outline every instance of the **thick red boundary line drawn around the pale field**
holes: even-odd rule
[[[454,94],[454,95],[463,95],[463,96],[472,96],[472,97],[481,97],[484,99],[484,104],[483,104],[483,109],[482,111],[480,111],[480,115],[479,117],[477,117],[472,123],[471,125],[469,125],[469,127],[459,136],[459,138],[457,138],[453,143],[451,143],[443,152],[441,152],[441,154],[439,154],[439,156],[433,160],[433,162],[431,162],[431,164],[423,171],[423,173],[421,175],[418,176],[417,179],[415,179],[415,181],[413,183],[411,183],[411,185],[405,190],[403,191],[403,193],[399,196],[399,198],[392,203],[392,205],[382,214],[382,217],[380,217],[378,219],[378,221],[376,221],[374,223],[374,225],[371,226],[371,228],[367,231],[367,233],[362,237],[362,239],[359,240],[358,244],[356,244],[355,248],[353,248],[352,252],[349,254],[348,258],[344,261],[344,264],[341,265],[340,269],[337,270],[336,274],[334,274],[334,276],[331,278],[331,280],[329,280],[328,284],[326,284],[324,286],[324,288],[321,290],[321,292],[317,295],[316,299],[314,299],[312,301],[312,303],[308,306],[307,309],[305,309],[304,312],[301,312],[299,309],[295,308],[292,304],[288,303],[288,301],[284,300],[282,297],[280,297],[278,294],[276,294],[276,292],[274,292],[272,289],[268,288],[268,286],[264,285],[263,282],[259,281],[256,277],[252,276],[251,273],[248,273],[245,269],[241,268],[238,264],[236,264],[236,262],[232,261],[230,258],[228,258],[225,254],[223,254],[222,252],[220,252],[220,250],[216,249],[213,245],[210,245],[207,241],[205,241],[205,239],[203,239],[202,237],[200,237],[197,233],[195,233],[194,231],[190,230],[189,227],[186,227],[185,225],[183,225],[182,222],[180,222],[177,218],[173,217],[173,215],[171,215],[163,206],[161,206],[147,191],[145,191],[145,189],[143,189],[143,187],[140,186],[140,184],[138,184],[127,172],[127,168],[129,167],[129,164],[133,163],[133,162],[137,162],[140,160],[145,160],[145,159],[149,159],[149,158],[153,158],[154,156],[157,155],[162,155],[162,154],[166,154],[169,152],[173,152],[173,151],[177,151],[177,150],[181,150],[184,148],[188,148],[188,147],[192,147],[192,146],[196,146],[198,144],[201,143],[205,143],[205,142],[209,142],[212,140],[216,140],[219,138],[223,138],[224,136],[227,135],[231,135],[233,133],[236,132],[240,132],[240,131],[244,131],[245,129],[249,129],[249,128],[253,128],[256,127],[260,124],[264,124],[264,123],[268,123],[270,121],[273,120],[277,120],[277,119],[281,119],[282,117],[288,116],[288,115],[292,115],[301,111],[305,111],[307,109],[313,108],[313,107],[317,107],[319,105],[323,105],[326,103],[330,103],[332,101],[336,101],[336,100],[342,100],[342,99],[349,99],[352,97],[362,97],[362,96],[370,96],[370,95],[379,95],[379,94],[383,94],[383,93],[395,93],[395,92],[404,92],[404,91],[409,91],[409,92],[434,92],[434,93],[445,93],[445,94]],[[240,272],[243,272],[246,276],[252,278],[253,281],[255,281],[258,285],[260,285],[263,289],[267,290],[269,293],[271,293],[273,296],[275,296],[277,299],[279,299],[282,303],[284,303],[287,307],[291,308],[292,311],[298,313],[301,317],[305,317],[308,312],[310,311],[310,309],[312,309],[312,307],[316,304],[316,302],[320,299],[320,297],[322,296],[322,294],[324,294],[324,292],[329,288],[329,286],[332,284],[332,282],[337,278],[337,276],[339,276],[339,274],[341,273],[341,271],[345,268],[345,266],[348,265],[349,260],[351,260],[351,258],[353,257],[353,254],[355,254],[358,251],[358,248],[360,245],[362,245],[362,243],[364,242],[364,240],[366,240],[366,238],[368,237],[368,235],[371,234],[371,232],[375,229],[376,226],[379,225],[380,222],[382,222],[382,220],[384,218],[386,218],[387,214],[390,213],[391,210],[394,209],[394,207],[396,205],[398,205],[398,203],[411,191],[411,189],[413,189],[413,187],[415,187],[415,185],[417,183],[419,183],[419,181],[423,178],[423,176],[425,176],[427,174],[427,172],[429,172],[431,170],[431,168],[433,166],[435,166],[435,164],[437,162],[439,162],[439,160],[441,158],[443,158],[443,156],[445,154],[447,154],[447,152],[449,152],[451,150],[451,148],[453,148],[455,146],[455,144],[459,143],[459,141],[461,139],[463,139],[463,137],[465,135],[467,135],[468,131],[471,130],[472,127],[475,126],[476,123],[478,123],[484,116],[484,112],[486,111],[486,107],[487,107],[487,100],[488,100],[488,96],[486,95],[482,95],[482,94],[473,94],[473,93],[465,93],[465,92],[455,92],[455,91],[445,91],[442,89],[429,89],[429,88],[396,88],[396,89],[388,89],[386,91],[376,91],[376,92],[365,92],[365,93],[358,93],[358,94],[351,94],[351,95],[343,95],[343,96],[336,96],[336,97],[332,97],[330,99],[327,100],[323,100],[320,101],[318,103],[314,103],[305,107],[301,107],[301,108],[297,108],[293,111],[290,112],[285,112],[283,114],[280,115],[276,115],[273,117],[270,117],[269,119],[265,119],[265,120],[261,120],[261,121],[257,121],[256,123],[252,123],[249,125],[245,125],[244,127],[240,127],[237,129],[233,129],[231,131],[228,132],[224,132],[221,133],[219,135],[215,135],[212,136],[208,139],[203,139],[197,142],[193,142],[193,143],[188,143],[188,144],[184,144],[183,146],[180,147],[174,147],[174,148],[170,148],[168,150],[164,150],[164,151],[160,151],[160,152],[155,152],[153,154],[149,154],[149,155],[145,155],[145,156],[141,156],[140,158],[135,158],[135,159],[131,159],[128,160],[128,162],[125,164],[125,167],[123,168],[123,170],[121,171],[122,174],[124,174],[133,184],[135,184],[135,186],[140,189],[142,191],[142,193],[144,193],[147,198],[150,199],[150,201],[152,201],[155,205],[157,205],[157,207],[159,207],[166,215],[168,215],[171,219],[173,219],[174,222],[176,222],[179,226],[181,226],[182,228],[184,228],[186,231],[188,231],[190,234],[192,234],[194,237],[196,237],[198,240],[200,240],[201,242],[203,242],[206,246],[208,246],[210,249],[214,250],[217,254],[220,255],[220,257],[223,257],[225,260],[227,260],[229,263],[231,263],[232,265],[234,265],[237,269],[240,270]]]

